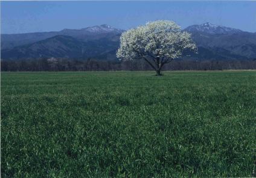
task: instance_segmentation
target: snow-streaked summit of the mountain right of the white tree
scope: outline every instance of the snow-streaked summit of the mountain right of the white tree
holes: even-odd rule
[[[188,32],[205,32],[208,34],[231,34],[235,32],[242,32],[240,29],[230,28],[221,25],[213,25],[209,22],[203,23],[201,25],[191,25],[185,28]]]

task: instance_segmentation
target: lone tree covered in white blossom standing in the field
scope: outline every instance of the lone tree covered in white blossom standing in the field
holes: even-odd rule
[[[169,20],[157,20],[129,29],[120,37],[117,57],[121,60],[143,59],[161,75],[164,64],[170,63],[188,51],[196,52],[196,44],[188,32]]]

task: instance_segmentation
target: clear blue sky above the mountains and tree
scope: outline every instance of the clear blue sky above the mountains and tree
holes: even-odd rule
[[[129,29],[158,19],[182,28],[210,22],[256,32],[256,1],[1,1],[1,33],[59,31],[107,23]]]

